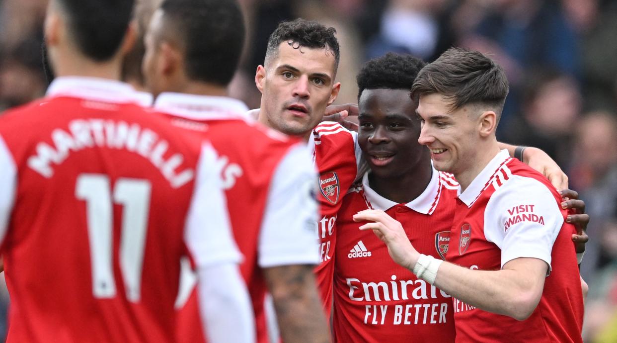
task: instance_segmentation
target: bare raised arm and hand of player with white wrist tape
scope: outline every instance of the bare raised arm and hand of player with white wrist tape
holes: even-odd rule
[[[373,221],[360,226],[372,229],[385,242],[394,262],[413,271],[420,253],[412,246],[400,223],[385,212],[365,210],[355,221]],[[436,262],[437,263],[437,262]],[[547,271],[547,263],[537,258],[515,258],[499,271],[470,270],[448,262],[438,262],[434,285],[474,307],[524,320],[536,308]]]

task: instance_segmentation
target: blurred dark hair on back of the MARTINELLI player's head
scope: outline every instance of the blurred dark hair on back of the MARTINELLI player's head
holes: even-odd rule
[[[135,0],[55,0],[77,48],[97,62],[111,59],[124,41]]]

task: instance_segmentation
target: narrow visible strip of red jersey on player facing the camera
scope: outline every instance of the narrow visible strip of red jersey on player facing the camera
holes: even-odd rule
[[[358,175],[358,161],[362,154],[356,140],[357,133],[333,122],[317,125],[309,140],[309,149],[313,149],[319,171],[318,199],[321,210],[317,223],[320,263],[315,268],[315,275],[328,318],[332,309],[337,212],[341,208],[342,197]]]

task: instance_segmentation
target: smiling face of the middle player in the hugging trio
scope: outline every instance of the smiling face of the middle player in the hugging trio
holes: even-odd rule
[[[418,144],[420,120],[409,90],[365,89],[358,107],[358,144],[373,174],[392,178],[417,168],[426,147]]]

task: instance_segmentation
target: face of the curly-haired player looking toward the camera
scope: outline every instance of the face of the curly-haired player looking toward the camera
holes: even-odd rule
[[[328,49],[294,49],[288,42],[281,43],[278,56],[265,68],[257,68],[255,75],[265,123],[286,134],[309,134],[341,86],[334,83],[334,65]]]

